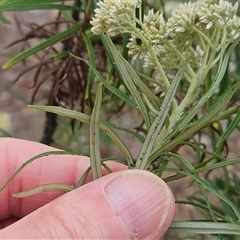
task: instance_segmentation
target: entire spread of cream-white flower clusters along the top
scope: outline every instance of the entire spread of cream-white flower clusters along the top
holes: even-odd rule
[[[139,20],[135,17],[141,0],[103,0],[97,5],[92,32],[110,36],[131,33],[129,54],[134,59],[143,58],[145,67],[155,65],[154,52],[165,69],[179,68],[188,59],[191,68],[197,70],[206,64],[209,54],[216,54],[240,36],[238,3],[198,0],[179,4],[167,21],[161,13],[150,10],[140,23],[141,29],[136,28]]]

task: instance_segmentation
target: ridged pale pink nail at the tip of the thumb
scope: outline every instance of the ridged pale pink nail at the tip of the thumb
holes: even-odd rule
[[[150,172],[124,171],[106,186],[105,192],[116,216],[135,238],[161,237],[173,219],[172,192]]]

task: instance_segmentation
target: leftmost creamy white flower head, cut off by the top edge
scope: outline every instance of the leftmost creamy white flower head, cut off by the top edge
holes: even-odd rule
[[[108,33],[115,36],[123,32],[126,21],[135,17],[135,9],[139,8],[141,0],[103,0],[97,3],[95,15],[90,23],[92,32],[96,35]]]

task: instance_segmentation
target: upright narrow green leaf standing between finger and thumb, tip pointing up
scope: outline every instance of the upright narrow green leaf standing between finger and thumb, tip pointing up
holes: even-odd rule
[[[94,102],[93,111],[90,118],[90,161],[94,180],[102,176],[100,141],[99,141],[99,118],[101,103],[102,103],[102,84],[100,83],[97,88],[96,99]]]

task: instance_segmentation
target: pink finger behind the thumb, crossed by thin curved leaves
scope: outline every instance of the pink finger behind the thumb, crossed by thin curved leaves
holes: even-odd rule
[[[28,159],[46,151],[56,150],[36,142],[0,138],[0,187]],[[75,186],[89,164],[88,157],[77,155],[50,155],[35,160],[26,166],[6,189],[0,192],[0,220],[12,216],[23,217],[63,194],[51,191],[17,199],[12,197],[13,193],[47,183]],[[113,171],[126,169],[126,166],[114,162],[108,162],[108,165]],[[90,180],[89,177],[88,181]]]

